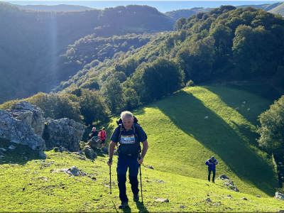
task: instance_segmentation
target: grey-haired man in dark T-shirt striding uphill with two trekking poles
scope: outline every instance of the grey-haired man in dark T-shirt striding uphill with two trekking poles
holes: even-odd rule
[[[123,111],[121,113],[122,124],[116,126],[111,135],[111,143],[109,144],[109,161],[107,164],[111,167],[112,156],[114,155],[114,148],[117,143],[119,158],[117,160],[117,181],[119,182],[119,198],[121,204],[119,209],[124,209],[129,206],[129,199],[126,195],[126,172],[129,168],[129,182],[133,192],[133,201],[139,201],[138,195],[138,169],[140,164],[143,163],[148,150],[148,141],[145,131],[138,124],[133,124],[133,115],[130,111]],[[140,142],[143,144],[141,152]]]

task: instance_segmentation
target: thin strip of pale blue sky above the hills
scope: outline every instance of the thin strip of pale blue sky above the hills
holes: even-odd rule
[[[0,0],[1,1],[1,0]],[[3,0],[2,0],[3,1]],[[57,5],[57,4],[72,4],[72,5],[82,5],[88,6],[94,9],[105,9],[108,7],[115,6],[126,6],[129,4],[138,4],[138,5],[148,5],[153,6],[158,11],[165,13],[167,11],[174,11],[178,9],[191,9],[193,7],[202,6],[202,7],[219,7],[221,5],[246,5],[246,4],[273,4],[275,2],[284,2],[283,1],[7,1],[11,4],[20,4],[20,5],[28,5],[28,4],[43,4],[43,5]]]

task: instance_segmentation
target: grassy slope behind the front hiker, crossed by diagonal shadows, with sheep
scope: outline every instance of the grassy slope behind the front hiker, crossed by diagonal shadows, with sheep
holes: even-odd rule
[[[246,107],[241,108],[244,101]],[[214,155],[219,161],[217,175],[225,173],[241,192],[273,196],[277,187],[273,162],[259,150],[255,132],[257,116],[270,104],[238,89],[192,87],[136,109],[133,114],[148,133],[150,144],[145,163],[156,170],[204,180],[204,162]],[[104,124],[109,136],[116,119],[109,126]]]

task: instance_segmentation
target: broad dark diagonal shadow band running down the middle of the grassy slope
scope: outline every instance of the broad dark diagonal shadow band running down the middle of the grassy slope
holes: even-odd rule
[[[273,169],[256,155],[256,151],[239,136],[239,133],[192,94],[181,91],[173,97],[174,99],[167,104],[152,106],[158,107],[179,129],[188,136],[193,135],[203,146],[222,158],[241,180],[251,182],[268,195],[275,193]],[[182,110],[180,104],[188,111]],[[200,114],[209,116],[209,119],[203,119]]]

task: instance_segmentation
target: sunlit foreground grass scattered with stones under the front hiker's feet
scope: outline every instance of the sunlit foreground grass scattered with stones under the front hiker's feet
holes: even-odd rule
[[[26,146],[3,139],[0,139],[0,144],[2,148],[11,144],[16,146],[15,150],[2,154],[4,158],[0,160],[1,212],[116,212],[119,191],[113,182],[112,194],[109,194],[107,156],[92,161],[81,160],[73,153],[48,151],[47,159],[42,162],[38,154]],[[29,152],[28,160],[22,160],[23,152]],[[8,160],[18,164],[6,163]],[[87,173],[86,176],[71,178],[65,173],[50,173],[50,170],[72,165]],[[115,170],[116,165],[112,168],[114,181]],[[92,180],[93,177],[96,180]],[[275,212],[282,209],[282,202],[273,197],[258,198],[226,190],[219,181],[215,185],[208,184],[206,180],[142,167],[142,182],[144,205],[141,202],[136,204],[129,196],[130,207],[124,211],[117,209],[119,212]],[[131,195],[128,182],[126,187]],[[225,198],[229,194],[231,199]],[[212,202],[204,201],[208,197]],[[248,200],[239,200],[241,197]],[[155,202],[156,198],[170,202]]]

